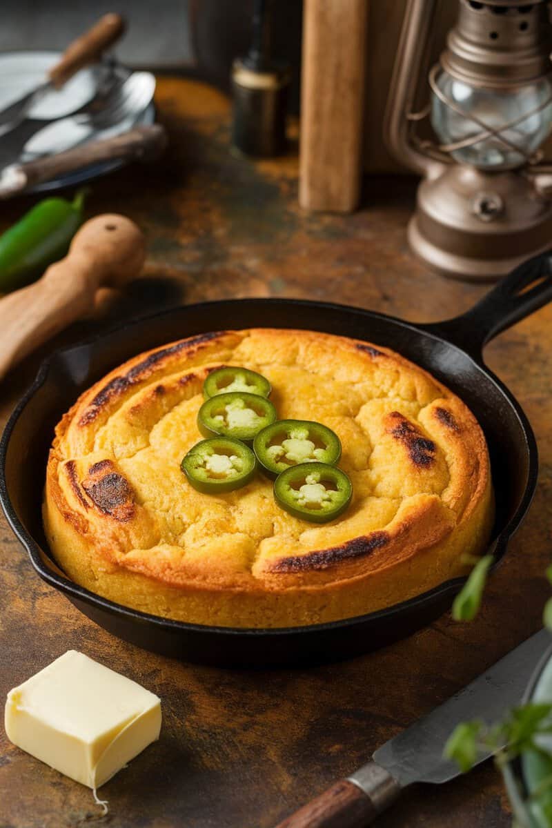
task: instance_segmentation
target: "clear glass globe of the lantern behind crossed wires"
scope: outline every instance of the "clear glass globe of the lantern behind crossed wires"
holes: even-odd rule
[[[436,94],[431,96],[431,124],[443,144],[462,141],[484,132],[469,118],[474,115],[492,129],[502,129],[502,136],[528,155],[545,141],[552,128],[552,103],[534,112],[552,97],[552,76],[524,84],[520,89],[484,89],[470,86],[448,72],[436,79],[444,97],[466,114],[454,112]],[[533,113],[533,114],[530,114]],[[526,117],[524,117],[526,116]],[[516,122],[514,126],[507,124]],[[482,170],[507,170],[526,163],[522,152],[491,135],[451,152],[455,161]]]

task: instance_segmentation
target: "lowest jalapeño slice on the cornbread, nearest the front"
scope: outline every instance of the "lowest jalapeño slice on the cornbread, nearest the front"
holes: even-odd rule
[[[274,481],[274,497],[294,517],[326,523],[343,514],[353,497],[353,485],[341,469],[326,463],[301,463]]]

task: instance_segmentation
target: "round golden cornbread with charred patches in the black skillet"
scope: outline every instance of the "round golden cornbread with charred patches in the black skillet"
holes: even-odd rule
[[[271,382],[281,419],[340,438],[348,512],[323,526],[282,511],[258,474],[203,494],[180,471],[201,439],[204,379],[239,365]],[[79,397],[56,429],[44,521],[77,583],[193,623],[279,627],[397,604],[465,571],[493,517],[487,446],[463,402],[378,345],[252,329],[140,354]]]

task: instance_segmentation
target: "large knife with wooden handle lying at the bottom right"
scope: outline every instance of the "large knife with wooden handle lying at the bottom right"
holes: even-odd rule
[[[414,782],[440,784],[459,776],[456,764],[443,756],[444,744],[454,727],[473,719],[492,724],[518,705],[531,672],[551,642],[548,630],[535,633],[444,704],[378,748],[370,762],[336,782],[277,828],[361,828]],[[490,755],[479,753],[477,763]]]

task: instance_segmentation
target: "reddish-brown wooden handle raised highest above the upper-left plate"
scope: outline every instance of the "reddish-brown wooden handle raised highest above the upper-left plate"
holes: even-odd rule
[[[67,46],[60,60],[48,72],[50,83],[55,89],[60,89],[75,72],[94,63],[103,51],[113,46],[125,31],[125,27],[120,14],[104,14],[89,31],[85,31],[84,35],[77,37]]]

